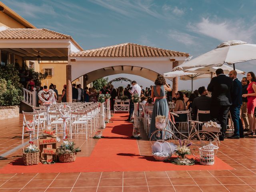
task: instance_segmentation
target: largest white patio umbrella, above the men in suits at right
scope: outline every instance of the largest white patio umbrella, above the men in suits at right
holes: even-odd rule
[[[187,70],[194,67],[220,67],[224,63],[229,65],[256,59],[256,44],[248,44],[239,40],[223,42],[216,49],[198,56],[174,68]]]

